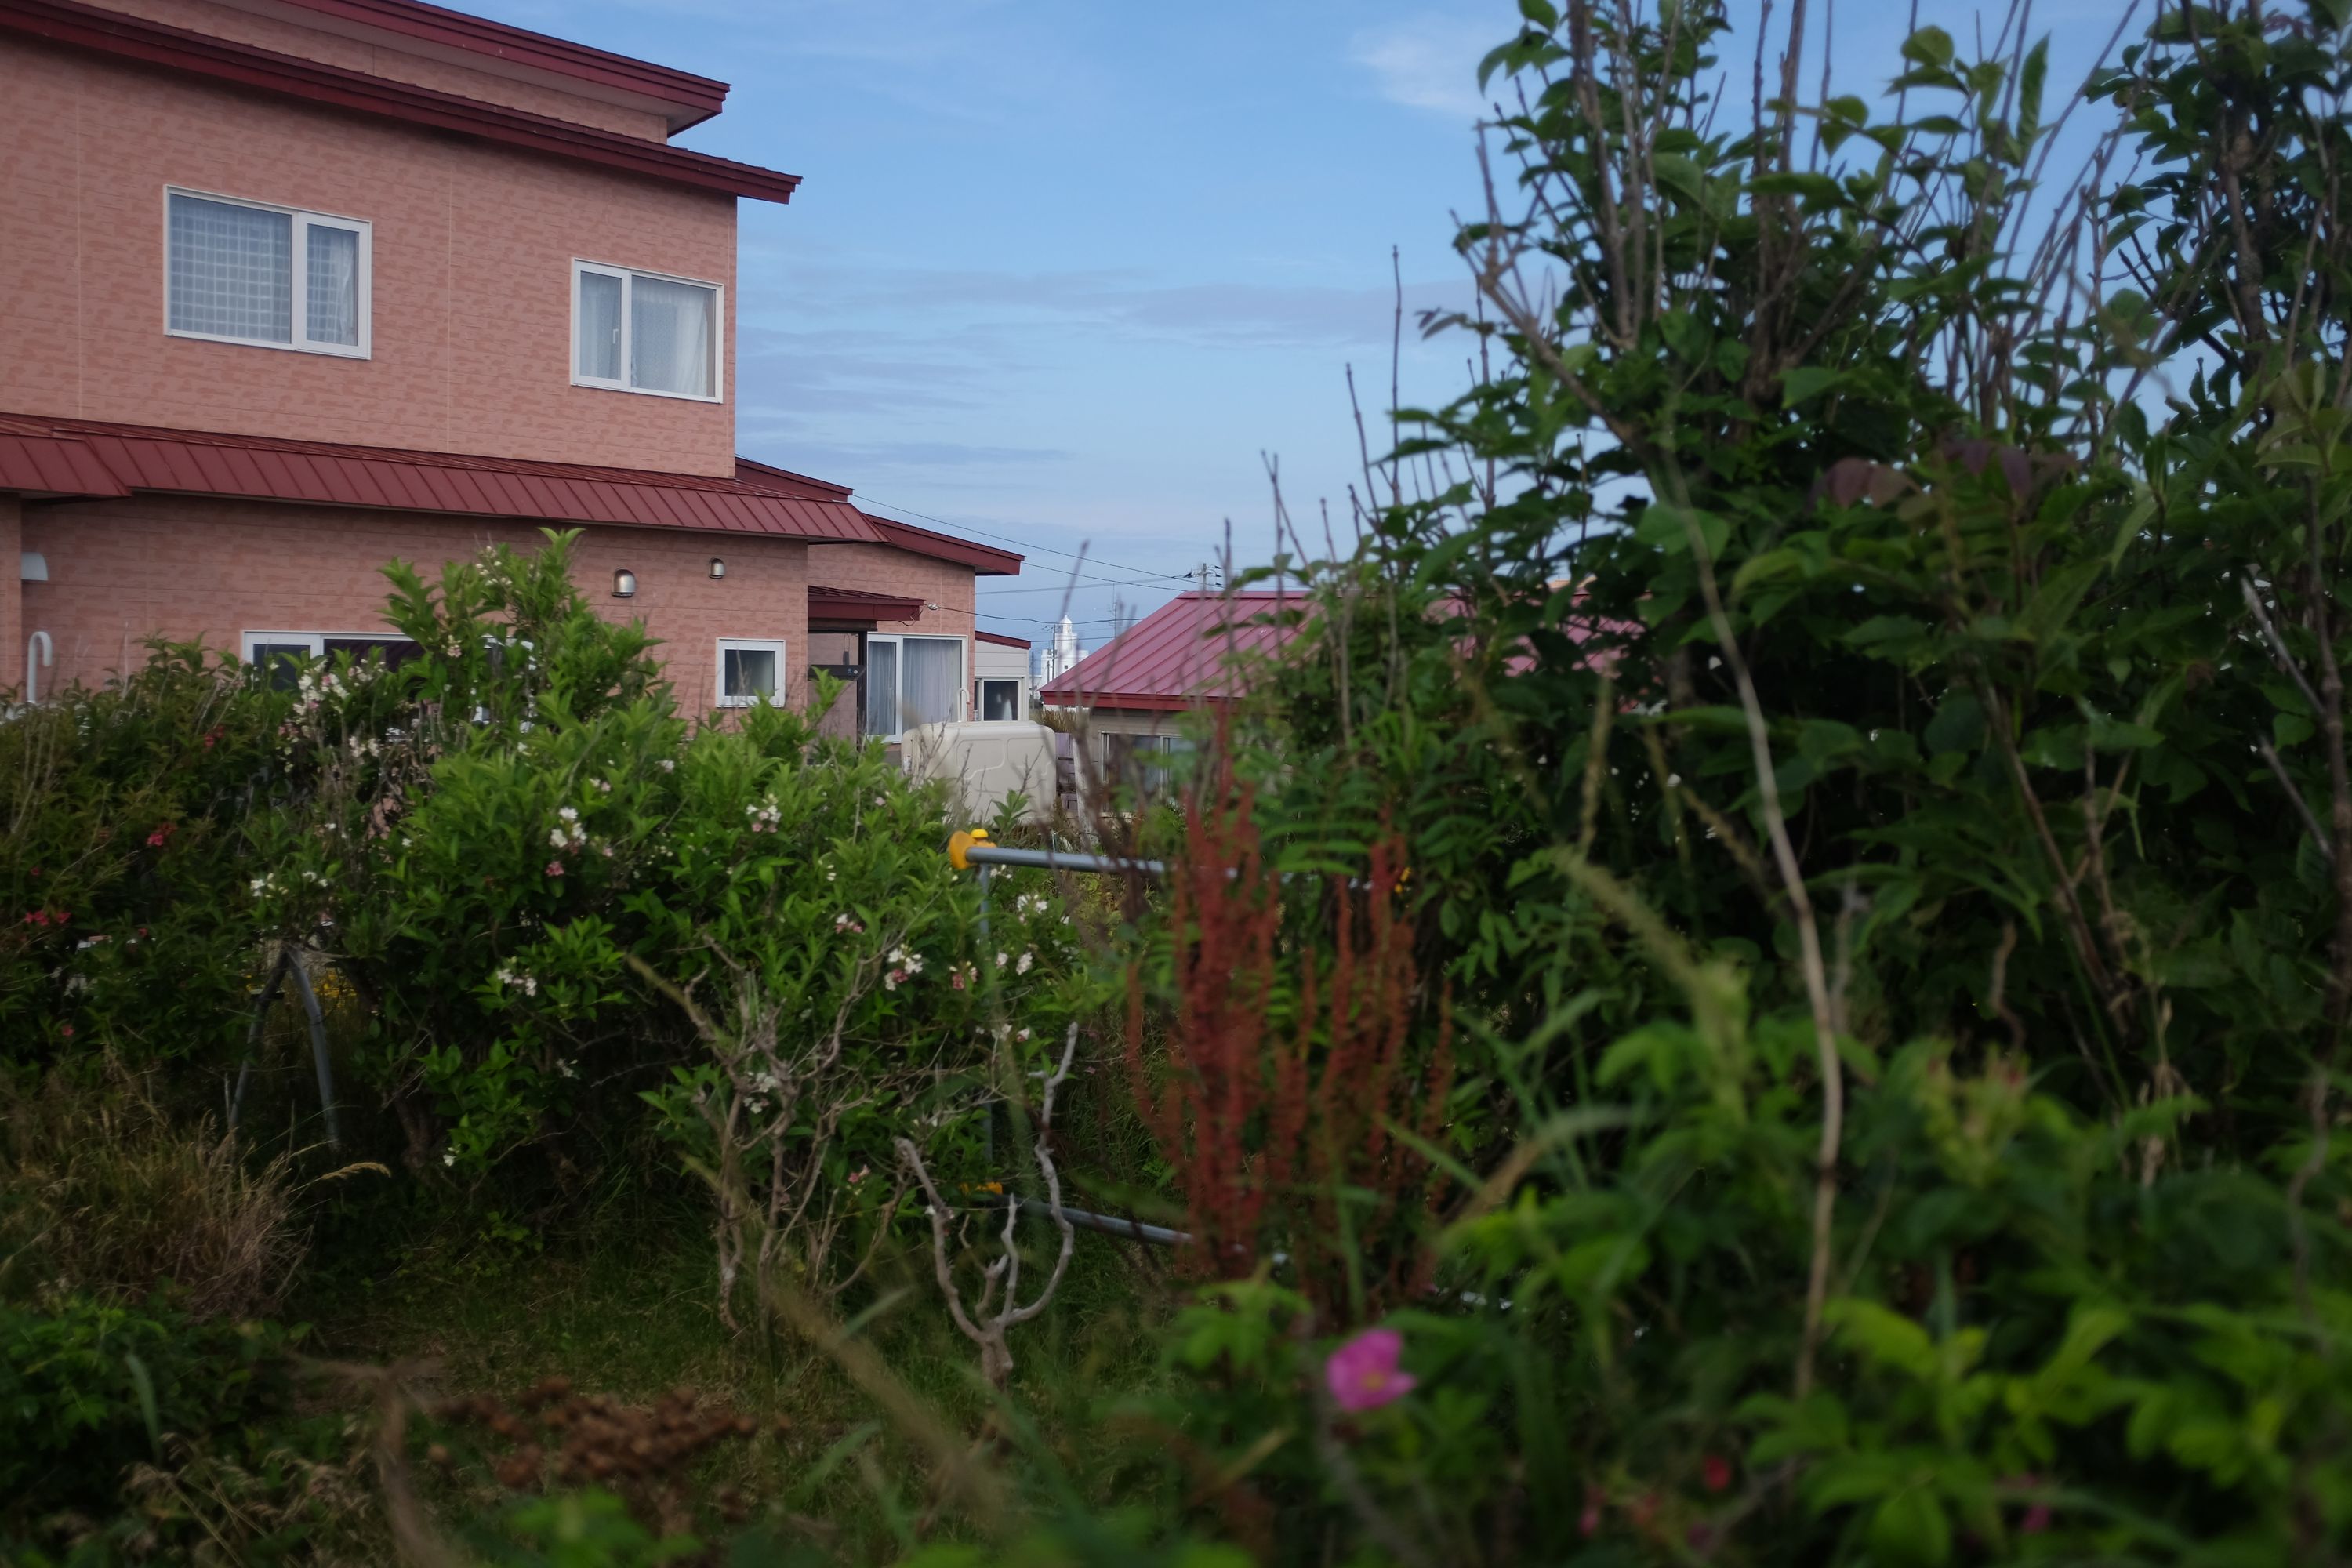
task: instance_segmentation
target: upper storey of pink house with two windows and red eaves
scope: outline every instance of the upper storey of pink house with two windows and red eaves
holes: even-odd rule
[[[724,82],[414,0],[0,0],[0,414],[734,475]]]

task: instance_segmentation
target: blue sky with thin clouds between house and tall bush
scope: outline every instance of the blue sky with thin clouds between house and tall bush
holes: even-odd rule
[[[1265,454],[1303,527],[1322,498],[1345,517],[1345,371],[1378,447],[1390,247],[1409,313],[1468,299],[1475,66],[1517,21],[1512,0],[456,2],[734,82],[680,143],[807,179],[741,207],[741,451],[1028,548],[1018,581],[981,581],[981,625],[1042,639],[1068,595],[1089,644],[1228,522],[1240,559],[1268,555]],[[2053,87],[2122,5],[2037,7]],[[1903,9],[1839,12],[1839,87],[1870,92]],[[1919,12],[1962,38],[1976,16]],[[1404,402],[1458,390],[1465,348],[1406,320]]]

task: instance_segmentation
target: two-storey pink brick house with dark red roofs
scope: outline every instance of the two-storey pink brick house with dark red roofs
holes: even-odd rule
[[[1021,557],[736,456],[736,202],[800,181],[668,143],[724,96],[414,0],[0,0],[0,689],[383,642],[386,559],[579,527],[689,710],[964,717]]]

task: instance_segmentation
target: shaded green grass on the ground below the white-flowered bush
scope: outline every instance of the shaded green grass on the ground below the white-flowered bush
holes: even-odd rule
[[[1023,1225],[1023,1276],[1042,1281],[1054,1234]],[[325,1260],[322,1260],[325,1262]],[[1162,1378],[1157,1326],[1169,1288],[1164,1260],[1141,1267],[1131,1244],[1080,1232],[1054,1305],[1014,1331],[1007,1392],[1016,1427],[1044,1453],[1021,1469],[1058,1474],[1080,1497],[1120,1500],[1136,1455],[1105,1450],[1091,1434],[1120,1396]],[[365,1284],[362,1284],[365,1281]],[[647,1213],[600,1239],[524,1253],[485,1246],[409,1246],[393,1269],[336,1258],[310,1274],[292,1314],[313,1324],[322,1356],[376,1366],[412,1363],[419,1401],[492,1394],[510,1399],[543,1378],[626,1403],[694,1389],[708,1406],[750,1415],[757,1436],[731,1441],[694,1469],[694,1488],[734,1488],[757,1521],[809,1540],[840,1561],[889,1561],[927,1533],[955,1530],[927,1493],[924,1458],[816,1345],[750,1321],[741,1333],[717,1314],[715,1262],[703,1218]],[[969,1286],[967,1286],[969,1288]],[[948,1319],[927,1255],[894,1258],[873,1291],[837,1302],[891,1373],[950,1432],[974,1443],[997,1432],[997,1401],[978,1380],[978,1352]],[[445,1521],[477,1516],[510,1497],[489,1474],[503,1443],[421,1422],[414,1450],[445,1441],[459,1465],[430,1476],[426,1502]],[[715,1521],[706,1521],[706,1528]]]

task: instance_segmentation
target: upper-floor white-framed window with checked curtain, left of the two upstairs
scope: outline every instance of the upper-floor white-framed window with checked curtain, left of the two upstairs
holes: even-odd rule
[[[369,223],[176,186],[162,205],[169,336],[369,355]]]

